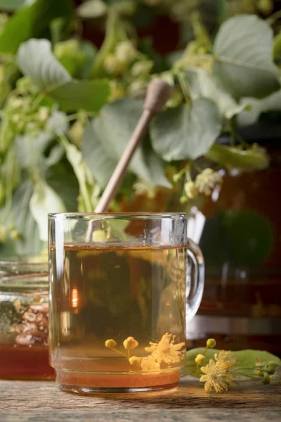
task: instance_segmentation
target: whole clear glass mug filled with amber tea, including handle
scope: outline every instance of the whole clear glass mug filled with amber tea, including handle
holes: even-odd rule
[[[175,388],[204,286],[186,215],[65,213],[48,222],[50,362],[60,388]]]

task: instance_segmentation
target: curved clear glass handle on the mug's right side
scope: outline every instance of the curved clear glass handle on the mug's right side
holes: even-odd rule
[[[186,322],[195,316],[203,295],[204,257],[200,247],[188,238],[188,262],[186,271]]]

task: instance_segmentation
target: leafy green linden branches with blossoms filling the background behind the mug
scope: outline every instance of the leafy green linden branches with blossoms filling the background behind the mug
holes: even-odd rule
[[[214,2],[213,15],[202,1],[176,13],[187,2],[169,3],[0,1],[8,11],[0,24],[1,253],[44,249],[48,212],[94,210],[155,76],[174,85],[174,96],[152,122],[112,210],[163,191],[185,210],[221,184],[218,170],[268,166],[266,151],[248,146],[237,128],[281,108],[278,13],[232,17],[233,1]],[[272,9],[270,1],[236,5]],[[138,39],[141,11],[143,19],[162,11],[180,21],[188,36],[178,51],[159,56]],[[105,28],[100,48],[82,36],[88,19]],[[229,146],[216,143],[222,133]]]

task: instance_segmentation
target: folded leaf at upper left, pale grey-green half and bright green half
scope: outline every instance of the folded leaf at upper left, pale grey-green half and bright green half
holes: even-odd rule
[[[18,65],[38,89],[53,98],[65,111],[80,108],[96,112],[107,102],[110,86],[107,80],[77,81],[53,56],[51,42],[30,39],[20,46]]]

